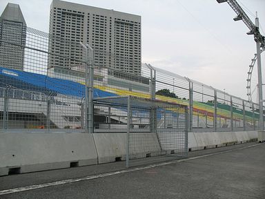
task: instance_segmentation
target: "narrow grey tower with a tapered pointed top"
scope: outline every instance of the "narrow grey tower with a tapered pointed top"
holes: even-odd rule
[[[0,17],[0,66],[23,70],[25,44],[26,21],[19,5],[8,3]]]

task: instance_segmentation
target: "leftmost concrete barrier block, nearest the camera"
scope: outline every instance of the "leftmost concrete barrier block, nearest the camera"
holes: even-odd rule
[[[86,133],[0,133],[0,176],[97,164]]]

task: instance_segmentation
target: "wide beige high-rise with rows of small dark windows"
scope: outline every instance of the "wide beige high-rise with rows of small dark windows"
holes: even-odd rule
[[[63,39],[90,44],[95,65],[141,75],[141,17],[115,10],[53,0],[50,6],[51,53],[48,68],[72,68],[84,59],[80,46]],[[58,38],[62,42],[59,42]]]

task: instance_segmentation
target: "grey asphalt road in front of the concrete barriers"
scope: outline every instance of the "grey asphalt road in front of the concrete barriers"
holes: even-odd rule
[[[152,167],[124,164],[3,176],[0,198],[265,198],[265,144],[194,151]]]

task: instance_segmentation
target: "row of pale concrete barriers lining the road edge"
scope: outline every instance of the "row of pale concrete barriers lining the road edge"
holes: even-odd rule
[[[137,146],[130,152],[140,155],[160,150],[155,133],[132,133]],[[94,141],[95,139],[95,141]],[[191,151],[257,139],[257,131],[188,133]],[[137,143],[137,144],[136,144]],[[131,143],[132,144],[132,143]],[[148,145],[146,147],[146,145]],[[20,173],[115,162],[126,158],[126,133],[0,133],[0,176],[9,169]],[[137,156],[138,157],[138,156]]]

